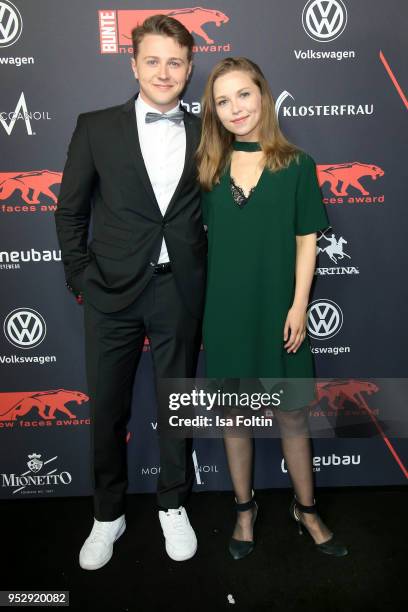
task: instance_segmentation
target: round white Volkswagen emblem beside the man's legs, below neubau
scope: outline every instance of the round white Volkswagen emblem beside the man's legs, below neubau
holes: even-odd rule
[[[4,335],[17,348],[30,349],[41,344],[47,332],[43,317],[32,308],[16,308],[4,320]]]

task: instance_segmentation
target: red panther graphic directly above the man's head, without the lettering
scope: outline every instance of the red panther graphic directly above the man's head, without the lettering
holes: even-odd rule
[[[142,24],[145,19],[152,15],[168,15],[169,17],[173,17],[173,19],[177,19],[177,21],[180,21],[191,34],[203,38],[209,45],[213,44],[214,40],[203,30],[203,26],[209,23],[215,23],[217,28],[219,28],[229,21],[229,17],[221,11],[203,8],[201,6],[181,9],[119,10],[117,13],[119,44],[126,46],[130,44],[132,39],[132,29]]]

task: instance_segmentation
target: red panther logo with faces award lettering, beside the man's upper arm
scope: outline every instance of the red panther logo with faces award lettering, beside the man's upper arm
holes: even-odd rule
[[[57,196],[51,187],[60,184],[62,172],[52,170],[33,170],[31,172],[0,172],[0,200],[17,198],[28,206],[11,203],[0,204],[2,212],[53,212],[57,206]],[[41,206],[45,198],[52,200],[54,204]],[[40,204],[40,206],[36,206]]]

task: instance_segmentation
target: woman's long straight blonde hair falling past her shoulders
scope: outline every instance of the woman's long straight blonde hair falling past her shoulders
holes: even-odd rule
[[[198,177],[201,186],[210,190],[217,183],[231,158],[234,135],[218,119],[214,100],[214,83],[233,71],[249,73],[261,92],[259,143],[265,155],[265,166],[272,172],[287,168],[297,158],[299,149],[282,134],[275,113],[275,102],[267,80],[257,64],[246,57],[227,57],[213,68],[202,98],[201,140],[197,149]]]

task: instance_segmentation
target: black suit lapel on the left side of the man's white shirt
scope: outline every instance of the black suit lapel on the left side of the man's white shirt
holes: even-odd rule
[[[160,207],[156,200],[156,196],[154,195],[153,187],[150,182],[149,175],[147,173],[146,166],[144,163],[142,151],[140,148],[135,112],[135,100],[136,96],[133,96],[130,100],[126,102],[126,104],[124,104],[122,109],[123,112],[121,115],[121,122],[123,137],[130,153],[130,159],[133,160],[133,163],[145,188],[146,194],[149,196],[149,199],[155,205],[160,217],[162,217]]]

